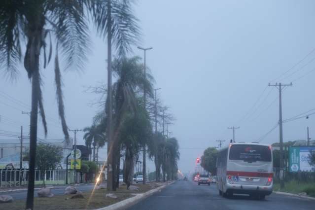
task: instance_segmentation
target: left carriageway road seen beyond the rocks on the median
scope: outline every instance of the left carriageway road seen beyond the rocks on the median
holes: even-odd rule
[[[36,186],[35,186],[36,187]],[[56,186],[54,187],[51,192],[55,195],[63,195],[65,192],[65,188],[67,186]],[[75,188],[78,191],[88,191],[88,190],[92,190],[94,187],[93,184],[85,184],[85,185],[77,185],[75,186]],[[35,190],[34,196],[37,197],[37,190]],[[13,197],[14,200],[18,200],[18,199],[26,199],[26,195],[27,195],[27,190],[18,190],[18,191],[12,191],[12,192],[0,192],[0,195],[10,195]]]

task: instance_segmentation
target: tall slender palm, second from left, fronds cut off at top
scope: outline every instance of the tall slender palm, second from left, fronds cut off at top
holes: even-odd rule
[[[138,19],[133,15],[133,0],[99,0],[91,4],[93,18],[100,35],[107,37],[107,103],[105,106],[107,118],[107,166],[115,168],[116,162],[113,153],[117,148],[114,146],[112,137],[112,85],[111,85],[111,54],[112,44],[118,57],[125,57],[131,51],[131,45],[139,40]],[[115,189],[114,171],[107,170],[107,190]]]

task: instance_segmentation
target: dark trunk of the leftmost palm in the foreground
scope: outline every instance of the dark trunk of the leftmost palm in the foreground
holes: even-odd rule
[[[38,37],[37,37],[38,38]],[[39,38],[34,41],[32,48],[36,48]],[[39,52],[36,53],[33,49],[34,64],[32,65],[32,110],[30,122],[30,162],[29,162],[29,184],[27,191],[26,209],[33,210],[34,207],[34,185],[35,185],[35,158],[36,158],[36,142],[37,142],[37,113],[39,100]]]

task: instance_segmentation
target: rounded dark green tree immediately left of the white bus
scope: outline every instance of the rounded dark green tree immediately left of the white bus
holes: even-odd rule
[[[216,158],[218,151],[215,147],[208,147],[201,156],[201,166],[212,175],[216,174]]]

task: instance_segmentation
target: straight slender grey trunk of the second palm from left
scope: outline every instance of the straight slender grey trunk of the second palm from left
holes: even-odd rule
[[[107,191],[114,187],[112,142],[112,90],[111,90],[111,0],[107,0]]]

